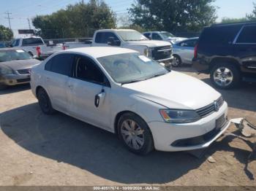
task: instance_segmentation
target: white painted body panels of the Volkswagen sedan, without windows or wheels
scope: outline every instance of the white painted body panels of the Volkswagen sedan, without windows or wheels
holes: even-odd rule
[[[192,147],[171,146],[170,144],[178,139],[201,136],[213,130],[220,116],[225,114],[227,117],[227,103],[224,102],[219,111],[196,122],[186,124],[165,122],[159,114],[159,109],[200,109],[213,103],[221,95],[206,83],[176,71],[146,81],[121,85],[110,77],[97,60],[107,55],[134,52],[136,51],[117,47],[87,47],[56,53],[55,55],[75,53],[91,58],[108,78],[110,87],[45,71],[45,63],[53,58],[54,55],[52,55],[32,69],[31,90],[37,96],[37,87],[43,87],[50,97],[53,109],[112,133],[116,133],[117,114],[124,111],[134,112],[148,124],[154,138],[154,147],[161,151],[172,152],[208,147],[228,128],[230,122],[227,122],[216,136],[204,144]],[[102,89],[105,90],[105,96],[102,97],[97,108],[94,106],[94,96]]]

